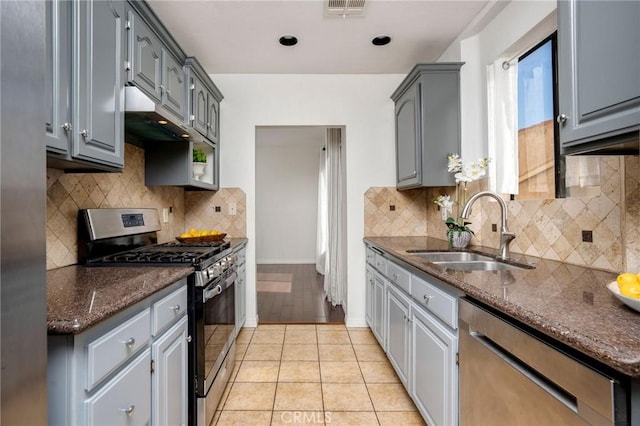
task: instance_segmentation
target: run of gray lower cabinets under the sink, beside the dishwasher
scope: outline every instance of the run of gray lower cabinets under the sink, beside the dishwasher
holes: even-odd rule
[[[373,334],[427,424],[457,424],[459,294],[371,247],[366,252],[366,312]],[[374,264],[384,264],[388,276]],[[379,292],[382,303],[376,300]]]

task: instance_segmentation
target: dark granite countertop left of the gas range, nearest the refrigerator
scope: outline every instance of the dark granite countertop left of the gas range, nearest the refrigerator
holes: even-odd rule
[[[80,333],[192,272],[185,266],[80,265],[47,271],[48,333]]]

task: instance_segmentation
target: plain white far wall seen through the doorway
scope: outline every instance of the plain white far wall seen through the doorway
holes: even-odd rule
[[[316,263],[325,127],[256,131],[256,263]]]

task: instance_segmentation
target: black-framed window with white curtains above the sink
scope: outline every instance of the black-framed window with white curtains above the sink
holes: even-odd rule
[[[489,74],[489,151],[497,159],[491,176],[511,199],[600,193],[598,157],[560,155],[556,58],[554,32],[517,60],[496,61]]]

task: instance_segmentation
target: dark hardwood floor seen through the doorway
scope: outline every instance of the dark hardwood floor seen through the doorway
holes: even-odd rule
[[[344,323],[342,307],[333,307],[325,300],[324,277],[316,272],[315,265],[258,265],[257,273],[258,279],[260,274],[291,274],[290,292],[258,291],[260,324]]]

